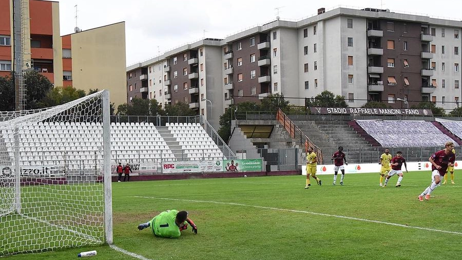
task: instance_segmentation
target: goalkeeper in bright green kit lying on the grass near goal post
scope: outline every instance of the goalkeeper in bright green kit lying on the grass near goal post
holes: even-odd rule
[[[153,217],[149,222],[138,225],[139,230],[150,227],[155,236],[177,238],[181,236],[181,231],[192,228],[192,232],[197,234],[197,227],[188,217],[187,211],[167,210]]]

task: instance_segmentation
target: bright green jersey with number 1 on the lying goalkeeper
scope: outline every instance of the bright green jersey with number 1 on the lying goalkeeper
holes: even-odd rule
[[[180,228],[175,222],[177,214],[178,210],[167,210],[152,218],[150,221],[152,233],[161,237],[179,237],[181,235]]]

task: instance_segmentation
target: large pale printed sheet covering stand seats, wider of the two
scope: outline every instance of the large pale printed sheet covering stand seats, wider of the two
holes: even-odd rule
[[[356,120],[359,126],[383,147],[430,147],[447,141],[458,143],[432,122],[422,120]]]

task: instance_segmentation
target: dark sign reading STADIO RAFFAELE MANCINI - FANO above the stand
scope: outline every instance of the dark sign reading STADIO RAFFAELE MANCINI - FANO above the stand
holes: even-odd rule
[[[310,110],[311,114],[321,115],[433,116],[430,109],[412,108],[310,107]]]

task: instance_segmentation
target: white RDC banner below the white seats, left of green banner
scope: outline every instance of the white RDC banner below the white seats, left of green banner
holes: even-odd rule
[[[162,173],[203,173],[223,171],[221,161],[166,161]]]

